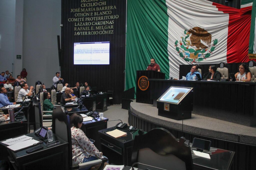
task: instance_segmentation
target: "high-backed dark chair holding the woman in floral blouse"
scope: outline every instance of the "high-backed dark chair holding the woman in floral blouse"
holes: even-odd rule
[[[52,132],[55,133],[58,137],[68,142],[68,162],[66,163],[66,167],[68,169],[81,169],[91,167],[101,164],[98,169],[103,169],[104,162],[107,161],[106,158],[98,159],[86,163],[81,163],[76,166],[72,166],[72,141],[71,141],[71,129],[70,129],[70,120],[69,115],[66,115],[65,108],[62,106],[57,106],[56,109],[52,113]],[[96,167],[96,166],[95,166]]]

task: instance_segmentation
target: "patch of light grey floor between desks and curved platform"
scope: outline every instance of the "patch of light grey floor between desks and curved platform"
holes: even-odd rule
[[[108,107],[108,110],[103,113],[104,117],[108,118],[109,120],[121,119],[123,123],[128,124],[128,110],[122,109],[121,104],[111,105]],[[108,122],[108,128],[115,126],[119,122],[120,120]]]

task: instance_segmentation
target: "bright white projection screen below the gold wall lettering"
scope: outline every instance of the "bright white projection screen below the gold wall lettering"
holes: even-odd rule
[[[109,64],[110,42],[74,43],[74,64]]]

